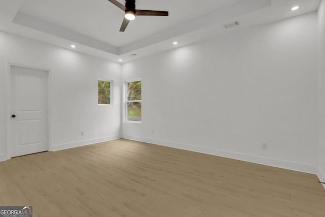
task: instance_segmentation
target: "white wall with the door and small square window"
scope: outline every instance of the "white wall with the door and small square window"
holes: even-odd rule
[[[121,137],[120,64],[4,32],[0,47],[0,160],[7,153],[7,62],[50,70],[52,150]],[[113,106],[98,105],[99,78],[114,80]]]

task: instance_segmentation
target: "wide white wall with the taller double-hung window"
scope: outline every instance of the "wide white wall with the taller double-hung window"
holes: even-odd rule
[[[124,138],[317,172],[316,13],[135,60],[122,71],[123,80],[143,85],[142,123],[123,123]]]

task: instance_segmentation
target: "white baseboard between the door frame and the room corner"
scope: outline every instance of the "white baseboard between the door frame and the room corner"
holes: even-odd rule
[[[122,138],[120,135],[115,135],[115,136],[103,137],[103,138],[98,138],[98,139],[89,139],[89,140],[83,140],[83,141],[78,141],[78,142],[53,145],[52,148],[50,149],[50,151],[58,151],[58,150],[63,150],[63,149],[68,149],[68,148],[75,148],[75,147],[95,144],[95,143],[99,143],[99,142],[106,142],[106,141],[111,141],[111,140],[120,139],[120,138]]]

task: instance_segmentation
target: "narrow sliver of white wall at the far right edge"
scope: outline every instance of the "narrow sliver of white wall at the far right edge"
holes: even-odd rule
[[[319,29],[319,172],[318,176],[325,181],[325,0],[318,9]],[[325,184],[324,184],[325,187]]]

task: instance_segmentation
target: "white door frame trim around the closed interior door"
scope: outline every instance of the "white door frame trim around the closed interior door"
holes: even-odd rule
[[[42,70],[47,73],[47,135],[48,135],[48,151],[52,151],[52,71],[50,69],[42,68],[42,67],[34,67],[34,66],[27,66],[23,64],[16,64],[16,63],[10,63],[7,62],[7,70],[6,70],[6,107],[7,107],[7,159],[11,159],[11,67],[21,67],[26,69],[32,69],[32,70]]]

